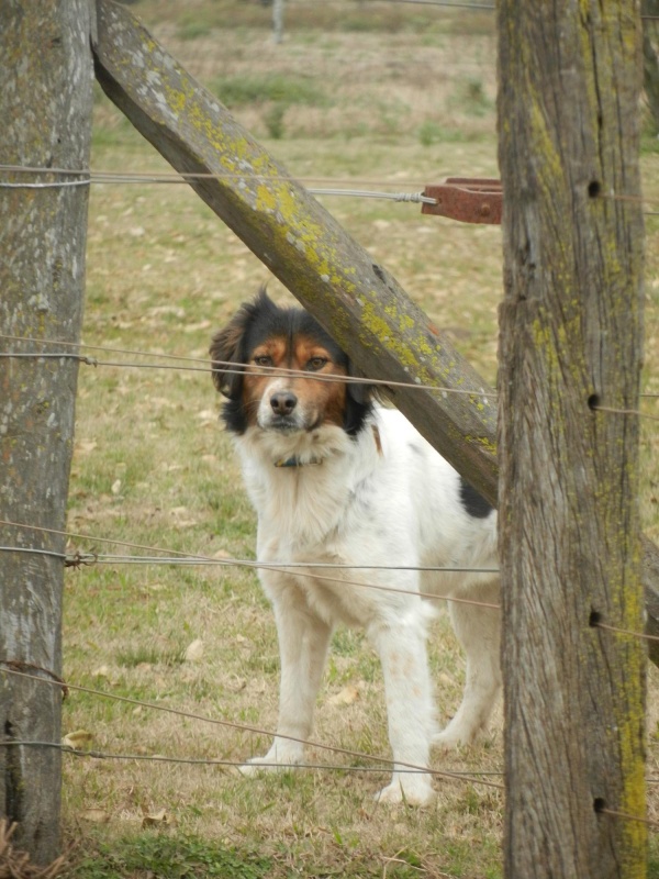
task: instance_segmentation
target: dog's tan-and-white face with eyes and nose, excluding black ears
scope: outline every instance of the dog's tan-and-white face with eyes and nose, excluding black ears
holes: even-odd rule
[[[278,375],[277,370],[306,372]],[[249,355],[243,382],[243,403],[248,423],[264,430],[313,431],[344,423],[346,386],[313,376],[345,376],[332,353],[308,335],[268,338]]]

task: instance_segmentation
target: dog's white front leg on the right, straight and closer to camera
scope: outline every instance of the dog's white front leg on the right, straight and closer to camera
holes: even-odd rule
[[[391,783],[376,797],[379,802],[428,803],[434,798],[425,769],[435,733],[435,708],[428,672],[425,626],[417,621],[377,626],[369,631],[384,676],[389,741],[394,767]],[[406,765],[405,765],[406,764]]]

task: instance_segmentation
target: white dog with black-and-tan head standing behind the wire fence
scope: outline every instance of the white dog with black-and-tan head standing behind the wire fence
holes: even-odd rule
[[[279,638],[279,721],[269,752],[245,771],[302,761],[300,739],[311,734],[343,622],[365,628],[382,665],[393,775],[377,799],[428,803],[431,776],[405,770],[426,769],[432,744],[471,743],[501,689],[500,612],[478,604],[499,599],[496,513],[372,387],[349,381],[350,360],[306,311],[278,307],[261,288],[213,336],[210,354],[258,516],[257,559],[279,566],[259,575]],[[460,708],[442,732],[426,655],[437,602],[428,596],[477,602],[448,602],[467,670]]]

